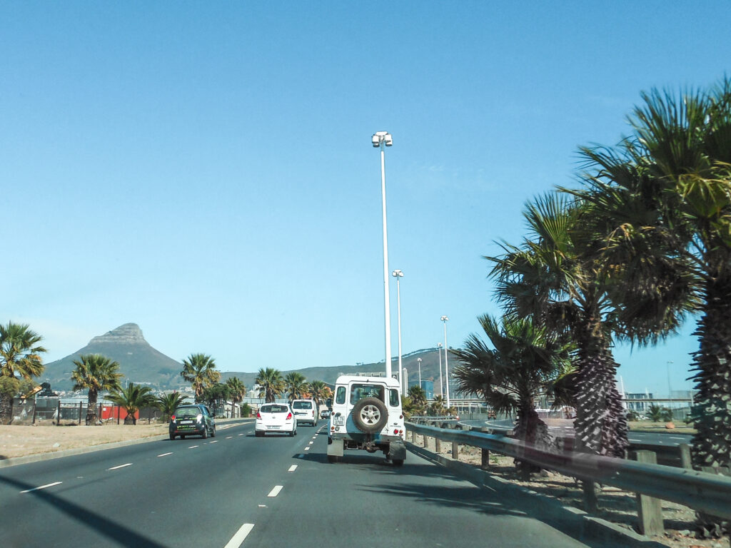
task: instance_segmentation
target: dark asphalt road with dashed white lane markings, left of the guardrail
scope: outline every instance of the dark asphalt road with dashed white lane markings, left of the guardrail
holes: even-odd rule
[[[365,452],[329,464],[323,422],[293,438],[253,428],[4,468],[0,546],[587,546],[527,495],[414,454],[401,468]]]

